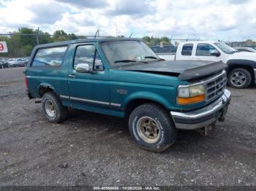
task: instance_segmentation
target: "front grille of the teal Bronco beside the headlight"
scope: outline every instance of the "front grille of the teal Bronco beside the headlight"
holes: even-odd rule
[[[227,74],[222,71],[221,74],[217,74],[205,81],[206,85],[206,101],[212,101],[219,98],[224,93],[227,85]]]

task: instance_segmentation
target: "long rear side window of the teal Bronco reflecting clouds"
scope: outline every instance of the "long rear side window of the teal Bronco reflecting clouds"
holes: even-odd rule
[[[56,67],[61,66],[67,47],[49,47],[39,49],[32,66],[34,67]]]

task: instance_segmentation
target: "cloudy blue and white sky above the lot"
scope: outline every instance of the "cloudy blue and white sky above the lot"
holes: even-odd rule
[[[0,0],[0,33],[256,40],[256,0]]]

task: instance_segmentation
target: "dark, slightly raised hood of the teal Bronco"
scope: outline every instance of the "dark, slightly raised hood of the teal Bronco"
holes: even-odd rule
[[[121,66],[121,70],[143,71],[154,74],[178,76],[180,80],[198,79],[216,74],[227,65],[222,61],[158,61],[153,63]]]

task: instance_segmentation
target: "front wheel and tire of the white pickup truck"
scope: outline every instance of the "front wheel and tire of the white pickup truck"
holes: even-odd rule
[[[238,82],[236,81],[236,79],[234,79],[236,78],[236,74],[241,74],[242,77],[244,77],[243,83]],[[228,82],[228,85],[234,88],[246,88],[252,83],[252,74],[246,69],[233,69],[228,74],[227,82]],[[236,85],[236,82],[238,82],[237,85]]]

